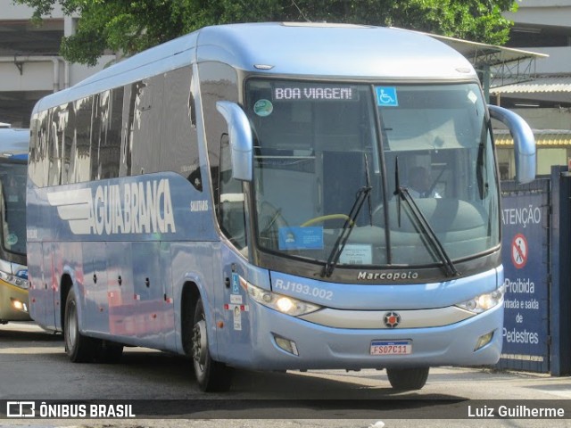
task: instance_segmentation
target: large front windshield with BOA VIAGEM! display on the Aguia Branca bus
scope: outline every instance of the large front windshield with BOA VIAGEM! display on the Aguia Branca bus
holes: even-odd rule
[[[337,266],[418,267],[500,244],[492,139],[476,83],[251,78],[245,102],[262,251],[319,263],[339,252]]]

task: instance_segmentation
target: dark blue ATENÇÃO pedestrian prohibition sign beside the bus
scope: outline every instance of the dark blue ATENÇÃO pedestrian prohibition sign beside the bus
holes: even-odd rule
[[[537,191],[530,192],[530,188]],[[505,182],[501,190],[506,293],[499,366],[549,373],[550,181],[522,186]]]

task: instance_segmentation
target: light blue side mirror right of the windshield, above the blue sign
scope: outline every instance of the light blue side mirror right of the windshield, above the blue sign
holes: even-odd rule
[[[508,127],[514,139],[516,155],[516,180],[525,185],[535,179],[535,137],[525,120],[508,109],[497,105],[488,105],[492,119],[500,120]]]

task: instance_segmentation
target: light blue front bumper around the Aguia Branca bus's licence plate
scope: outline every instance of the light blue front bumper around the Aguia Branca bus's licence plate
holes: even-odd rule
[[[451,325],[417,328],[335,328],[289,317],[252,302],[250,343],[221,359],[252,369],[349,369],[406,366],[481,366],[497,363],[501,355],[503,305]],[[478,338],[492,339],[476,349]],[[244,337],[244,339],[246,338]],[[294,355],[280,348],[276,337],[294,342]],[[370,355],[373,341],[408,340],[408,355]]]

